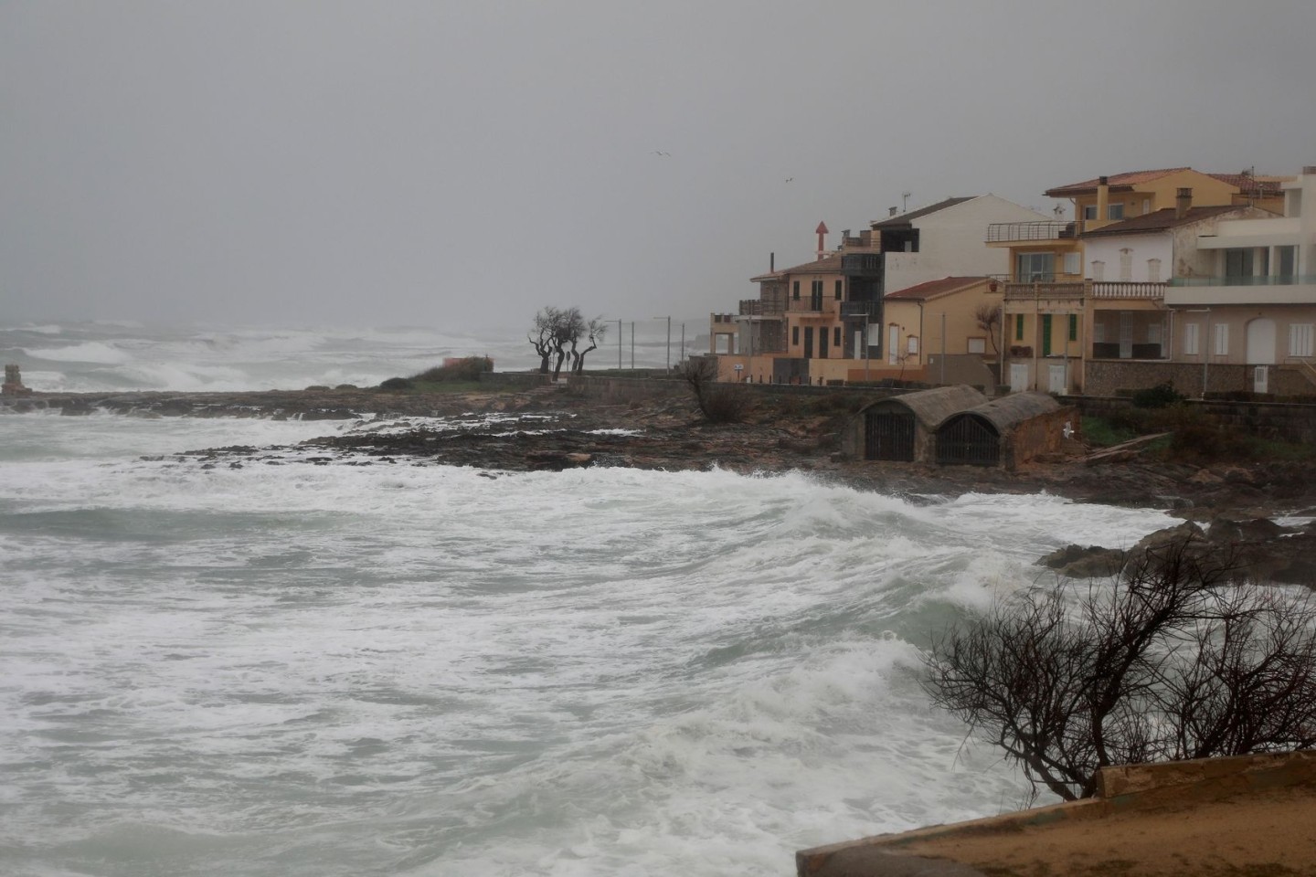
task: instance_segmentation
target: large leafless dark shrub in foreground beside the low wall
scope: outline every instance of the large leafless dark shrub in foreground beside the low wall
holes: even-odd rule
[[[1107,765],[1313,746],[1316,610],[1234,576],[1178,540],[1034,589],[938,638],[925,688],[1067,801]]]

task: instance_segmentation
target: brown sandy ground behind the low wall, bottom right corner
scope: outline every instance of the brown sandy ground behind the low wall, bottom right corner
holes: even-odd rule
[[[990,877],[1316,876],[1316,788],[932,839],[900,849],[973,865]]]

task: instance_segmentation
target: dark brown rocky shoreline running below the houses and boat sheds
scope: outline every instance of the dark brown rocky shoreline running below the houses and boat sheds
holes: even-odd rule
[[[342,422],[325,437],[295,447],[200,448],[171,455],[207,467],[428,463],[476,467],[488,477],[591,465],[667,471],[716,467],[765,475],[808,472],[915,501],[963,493],[1046,492],[1078,502],[1165,509],[1186,521],[1211,525],[1213,534],[1233,534],[1234,542],[1255,559],[1258,572],[1316,586],[1316,525],[1283,523],[1316,517],[1316,475],[1309,464],[1298,462],[1195,467],[1137,455],[1094,462],[1086,459],[1087,448],[1078,443],[1066,455],[1016,472],[845,460],[836,438],[851,415],[844,408],[761,404],[749,422],[713,425],[684,398],[601,404],[561,385],[447,394],[346,388],[33,394],[24,397],[22,408],[58,409],[66,415],[112,412],[130,417]],[[411,418],[445,418],[446,425]],[[1275,523],[1275,518],[1280,522]]]

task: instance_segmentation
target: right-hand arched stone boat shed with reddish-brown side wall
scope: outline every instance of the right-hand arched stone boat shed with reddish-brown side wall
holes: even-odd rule
[[[937,463],[1013,469],[1061,450],[1075,412],[1046,393],[1012,393],[945,418],[937,427]]]

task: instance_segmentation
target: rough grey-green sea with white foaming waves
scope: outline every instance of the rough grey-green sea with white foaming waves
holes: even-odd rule
[[[511,333],[0,329],[61,392],[472,354],[533,363]],[[1042,554],[1173,523],[807,473],[178,456],[358,429],[0,415],[0,874],[787,876],[1013,810],[1028,784],[930,706],[924,650]]]

